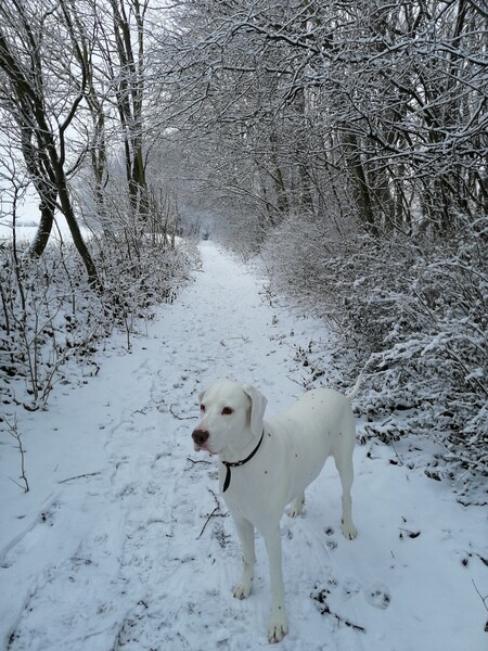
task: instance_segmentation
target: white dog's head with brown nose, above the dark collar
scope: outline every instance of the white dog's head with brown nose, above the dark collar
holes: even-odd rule
[[[267,399],[254,386],[222,380],[198,399],[202,420],[192,434],[195,450],[236,454],[261,435]]]

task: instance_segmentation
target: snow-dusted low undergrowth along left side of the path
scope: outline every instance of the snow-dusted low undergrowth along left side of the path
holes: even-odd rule
[[[57,382],[72,382],[73,366],[98,372],[90,359],[114,329],[131,336],[153,306],[170,302],[188,280],[196,250],[144,238],[93,237],[90,242],[103,289],[90,288],[73,246],[49,246],[41,258],[0,247],[0,390],[3,404],[46,405]]]

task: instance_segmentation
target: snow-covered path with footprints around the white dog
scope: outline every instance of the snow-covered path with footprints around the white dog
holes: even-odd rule
[[[57,387],[48,411],[20,412],[28,494],[9,478],[20,456],[2,434],[2,648],[268,647],[264,545],[253,595],[232,599],[240,551],[216,461],[193,452],[196,394],[215,379],[242,379],[267,395],[272,414],[301,393],[294,346],[324,347],[328,336],[319,322],[268,305],[262,282],[211,243],[202,255],[195,282],[160,307],[132,354],[114,342],[97,378]],[[402,452],[401,444],[357,447],[356,540],[341,534],[332,462],[304,516],[283,518],[283,651],[487,648],[486,510],[462,507],[447,484],[401,464]]]

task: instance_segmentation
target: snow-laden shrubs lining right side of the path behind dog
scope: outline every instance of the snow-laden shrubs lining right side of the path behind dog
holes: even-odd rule
[[[460,219],[449,242],[342,239],[297,224],[279,227],[265,260],[277,289],[359,350],[370,434],[425,434],[457,464],[487,471],[488,218]]]

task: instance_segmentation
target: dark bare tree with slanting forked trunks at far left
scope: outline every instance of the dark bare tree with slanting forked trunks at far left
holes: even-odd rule
[[[2,110],[15,119],[26,167],[41,199],[42,219],[33,253],[41,254],[47,244],[57,200],[89,281],[99,286],[97,268],[81,235],[68,187],[79,157],[69,165],[67,131],[86,91],[87,62],[77,56],[78,63],[84,63],[76,75],[72,56],[68,54],[66,59],[64,54],[67,50],[64,39],[73,48],[78,47],[73,39],[67,3],[7,0],[0,15],[0,69],[8,82],[1,95]],[[52,29],[48,30],[47,25],[52,21]]]

